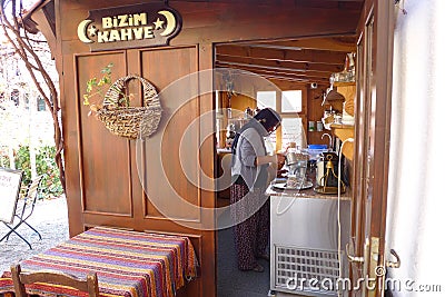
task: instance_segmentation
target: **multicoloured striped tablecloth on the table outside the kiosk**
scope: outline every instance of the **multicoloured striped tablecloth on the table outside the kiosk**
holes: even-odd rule
[[[101,296],[169,297],[196,277],[197,259],[187,237],[96,227],[21,261],[23,271],[57,270],[85,278],[96,271]],[[10,273],[0,293],[12,291]],[[27,286],[38,295],[86,296],[49,284]]]

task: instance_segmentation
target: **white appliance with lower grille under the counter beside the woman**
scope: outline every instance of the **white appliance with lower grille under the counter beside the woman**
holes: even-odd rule
[[[270,196],[269,296],[337,296],[340,273],[348,276],[349,199],[340,200],[339,211],[342,270],[336,196]]]

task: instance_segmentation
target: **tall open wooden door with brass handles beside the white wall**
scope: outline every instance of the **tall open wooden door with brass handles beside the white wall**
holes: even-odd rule
[[[384,293],[393,10],[389,1],[367,1],[357,43],[353,296]]]

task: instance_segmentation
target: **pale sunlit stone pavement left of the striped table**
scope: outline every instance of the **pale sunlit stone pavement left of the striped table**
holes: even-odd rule
[[[2,271],[9,270],[12,264],[27,259],[68,239],[67,200],[65,197],[39,200],[34,212],[27,221],[41,234],[42,240],[39,240],[38,235],[28,226],[21,225],[18,228],[18,232],[31,244],[32,249],[29,249],[29,246],[14,234],[11,234],[8,241],[1,241],[0,275]],[[0,238],[8,230],[3,222],[0,222]]]

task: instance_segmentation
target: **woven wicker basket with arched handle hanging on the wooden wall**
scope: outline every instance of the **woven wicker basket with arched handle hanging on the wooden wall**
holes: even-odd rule
[[[122,92],[129,80],[137,79],[144,87],[144,107],[122,106]],[[103,98],[103,107],[97,111],[98,119],[107,129],[121,137],[137,139],[152,135],[160,121],[161,107],[155,87],[136,75],[116,80]]]

